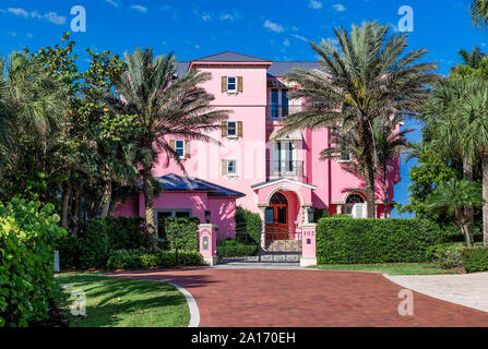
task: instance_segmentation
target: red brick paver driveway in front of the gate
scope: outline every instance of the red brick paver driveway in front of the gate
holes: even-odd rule
[[[400,286],[381,274],[303,269],[181,269],[118,274],[190,291],[200,326],[488,326],[488,313],[414,292],[398,315]]]

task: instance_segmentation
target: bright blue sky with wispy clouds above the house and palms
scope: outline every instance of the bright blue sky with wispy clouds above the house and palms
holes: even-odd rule
[[[136,47],[156,53],[175,51],[179,60],[231,50],[271,60],[313,60],[308,40],[334,37],[333,27],[377,20],[395,28],[398,9],[414,9],[410,48],[427,48],[426,60],[439,62],[439,73],[459,62],[457,50],[479,46],[488,51],[488,34],[471,23],[468,0],[296,0],[296,1],[148,1],[148,0],[0,0],[0,52],[7,56],[27,46],[31,50],[60,41],[70,31],[74,5],[86,10],[86,32],[73,33],[80,65],[84,49],[122,55]],[[409,128],[419,128],[409,121]],[[419,140],[420,132],[409,135]],[[395,200],[407,203],[408,170]]]

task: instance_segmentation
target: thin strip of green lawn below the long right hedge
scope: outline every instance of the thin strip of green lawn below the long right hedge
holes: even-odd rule
[[[356,270],[388,273],[390,275],[433,275],[459,274],[457,270],[441,269],[428,263],[384,263],[384,264],[321,264],[312,266],[324,270]]]

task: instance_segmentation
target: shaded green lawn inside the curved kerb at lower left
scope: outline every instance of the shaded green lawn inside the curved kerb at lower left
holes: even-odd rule
[[[56,281],[70,327],[182,327],[190,322],[185,296],[168,284],[88,273],[60,274]],[[71,315],[73,290],[85,292],[86,316]]]

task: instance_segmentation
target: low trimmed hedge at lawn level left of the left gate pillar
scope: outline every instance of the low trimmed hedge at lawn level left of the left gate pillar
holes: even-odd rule
[[[145,269],[202,264],[202,255],[195,251],[179,251],[177,261],[174,251],[159,250],[156,253],[148,253],[145,249],[136,249],[111,251],[106,267],[109,269]]]

